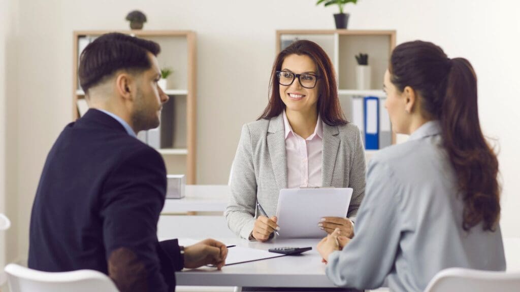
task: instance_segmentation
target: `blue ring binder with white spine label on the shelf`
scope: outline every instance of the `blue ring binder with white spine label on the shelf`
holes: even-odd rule
[[[365,149],[379,149],[379,98],[367,96],[365,105]]]

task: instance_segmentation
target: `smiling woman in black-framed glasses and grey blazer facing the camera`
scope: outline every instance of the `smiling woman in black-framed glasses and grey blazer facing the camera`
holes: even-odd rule
[[[347,213],[353,219],[365,193],[365,150],[358,127],[340,108],[326,52],[310,41],[282,50],[270,90],[262,115],[242,128],[225,211],[229,228],[249,240],[269,240],[279,230],[274,215],[285,188],[353,188]],[[255,218],[256,202],[264,211]],[[351,238],[349,218],[325,217],[316,225]]]

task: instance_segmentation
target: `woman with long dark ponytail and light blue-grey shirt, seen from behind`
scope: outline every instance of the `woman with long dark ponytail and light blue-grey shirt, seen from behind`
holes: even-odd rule
[[[356,236],[318,244],[339,286],[422,291],[440,270],[505,270],[497,156],[480,129],[469,61],[427,42],[397,46],[385,107],[409,141],[382,150],[367,172]]]

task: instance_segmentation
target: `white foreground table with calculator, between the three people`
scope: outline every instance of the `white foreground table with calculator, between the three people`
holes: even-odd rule
[[[184,286],[239,286],[239,287],[336,287],[325,274],[326,265],[316,250],[319,239],[314,240],[279,240],[267,243],[249,242],[238,238],[218,238],[226,245],[269,249],[271,247],[306,247],[300,256],[285,256],[248,263],[225,266],[221,271],[215,268],[203,267],[193,270],[183,270],[176,273],[177,285]],[[183,240],[179,240],[183,244]],[[232,247],[230,247],[231,249]]]

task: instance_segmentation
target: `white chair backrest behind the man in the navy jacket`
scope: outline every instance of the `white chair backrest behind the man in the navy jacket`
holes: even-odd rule
[[[49,273],[10,263],[5,272],[11,292],[118,292],[107,275],[94,270]]]

